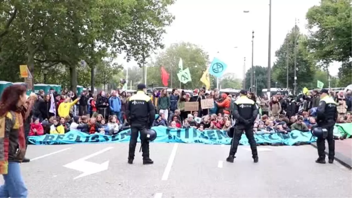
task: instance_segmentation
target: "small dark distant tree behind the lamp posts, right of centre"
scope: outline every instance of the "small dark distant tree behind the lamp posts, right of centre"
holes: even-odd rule
[[[268,67],[254,66],[256,71],[256,84],[257,84],[257,95],[262,95],[263,89],[268,88]],[[252,68],[248,69],[246,72],[246,89],[251,87],[251,72]],[[275,87],[275,80],[271,79],[271,88]]]

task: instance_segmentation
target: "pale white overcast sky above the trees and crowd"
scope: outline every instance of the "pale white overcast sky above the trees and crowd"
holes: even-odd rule
[[[306,12],[318,4],[319,0],[272,0],[271,66],[295,18],[301,32],[307,33]],[[220,58],[228,66],[226,72],[242,78],[244,57],[246,70],[251,67],[254,30],[253,64],[268,66],[269,0],[177,0],[169,11],[176,19],[166,29],[166,47],[181,41],[197,44],[209,53],[210,61],[214,56]],[[127,66],[122,57],[117,62]],[[131,61],[129,65],[136,63]],[[338,63],[333,64],[331,75],[337,75],[338,68]]]

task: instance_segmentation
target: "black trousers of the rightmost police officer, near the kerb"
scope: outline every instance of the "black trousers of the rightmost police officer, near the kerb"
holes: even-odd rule
[[[328,141],[329,146],[329,159],[334,159],[335,156],[335,140],[334,140],[334,120],[328,120],[327,122],[320,122],[318,126],[326,129],[328,135],[326,138],[318,138],[316,140],[316,146],[318,147],[318,155],[320,158],[325,159],[325,139]]]

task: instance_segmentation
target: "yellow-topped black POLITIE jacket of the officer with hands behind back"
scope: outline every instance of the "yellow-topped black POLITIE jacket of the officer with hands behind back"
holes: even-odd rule
[[[241,124],[253,124],[258,116],[258,108],[253,100],[241,96],[234,103],[232,116]]]

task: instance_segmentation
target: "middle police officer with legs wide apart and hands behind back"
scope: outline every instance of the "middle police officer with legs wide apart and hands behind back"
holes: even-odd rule
[[[240,97],[234,102],[232,116],[236,120],[234,126],[234,132],[231,140],[230,155],[227,157],[226,161],[232,162],[237,152],[237,147],[239,141],[241,140],[241,135],[243,131],[248,138],[248,142],[251,146],[252,157],[255,163],[258,162],[258,151],[257,144],[254,139],[253,125],[258,115],[258,108],[253,100],[247,98],[247,91],[241,90]]]

